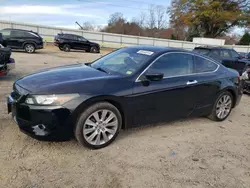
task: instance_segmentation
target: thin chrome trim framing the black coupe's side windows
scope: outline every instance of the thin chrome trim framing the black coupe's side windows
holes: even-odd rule
[[[203,58],[203,59],[206,59],[214,64],[217,65],[217,68],[214,70],[214,71],[209,71],[209,72],[200,72],[200,73],[192,73],[192,74],[184,74],[184,75],[178,75],[178,76],[166,76],[166,77],[163,77],[163,79],[166,79],[166,78],[177,78],[177,77],[183,77],[183,76],[192,76],[192,75],[199,75],[199,74],[210,74],[210,73],[214,73],[216,72],[219,67],[220,67],[220,64],[216,63],[215,61],[211,60],[211,59],[208,59],[206,57],[203,57],[199,54],[192,54],[192,53],[188,53],[188,52],[166,52],[162,55],[160,55],[159,57],[157,57],[152,63],[150,63],[145,69],[144,71],[141,72],[141,74],[136,78],[135,82],[141,82],[141,80],[139,80],[139,78],[158,60],[160,59],[162,56],[164,55],[168,55],[168,54],[188,54],[188,55],[192,55],[192,56],[197,56],[197,57],[200,57],[200,58]]]

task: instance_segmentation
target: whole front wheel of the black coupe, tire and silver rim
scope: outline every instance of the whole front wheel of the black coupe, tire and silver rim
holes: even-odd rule
[[[119,110],[108,102],[96,103],[87,108],[75,126],[77,141],[89,148],[100,149],[111,144],[122,126]]]

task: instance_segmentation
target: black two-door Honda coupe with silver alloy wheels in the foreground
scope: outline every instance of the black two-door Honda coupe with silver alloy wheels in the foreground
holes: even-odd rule
[[[17,80],[8,111],[38,140],[109,145],[121,129],[178,118],[225,120],[242,96],[239,74],[209,57],[163,47],[128,47],[93,63]]]

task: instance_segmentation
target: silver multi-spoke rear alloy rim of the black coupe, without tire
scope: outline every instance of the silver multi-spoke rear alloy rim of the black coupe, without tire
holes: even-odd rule
[[[232,98],[229,95],[223,95],[216,104],[216,116],[224,119],[228,116],[232,108]]]

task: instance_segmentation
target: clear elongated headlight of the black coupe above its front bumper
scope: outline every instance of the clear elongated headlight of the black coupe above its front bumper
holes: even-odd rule
[[[32,105],[62,105],[76,97],[79,97],[79,94],[28,95],[25,103]]]

